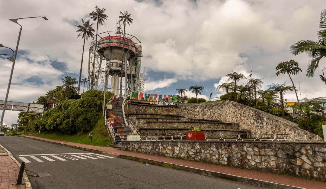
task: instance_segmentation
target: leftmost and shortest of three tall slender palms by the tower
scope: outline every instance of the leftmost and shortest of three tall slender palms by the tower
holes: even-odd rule
[[[88,38],[94,37],[93,32],[95,32],[95,30],[93,29],[92,26],[93,24],[90,24],[89,20],[85,21],[83,19],[82,19],[82,25],[76,25],[76,27],[78,28],[76,32],[80,32],[77,38],[82,36],[82,38],[84,39],[84,43],[82,45],[82,60],[84,58],[85,39],[88,40]],[[82,79],[82,62],[81,62],[81,71],[79,73],[78,94],[79,94],[79,89],[81,87],[81,79]]]

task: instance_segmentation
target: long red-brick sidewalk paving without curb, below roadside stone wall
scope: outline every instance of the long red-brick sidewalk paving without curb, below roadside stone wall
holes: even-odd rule
[[[36,136],[25,136],[25,137],[36,138],[36,139],[40,139],[40,140],[44,140],[44,141],[56,142],[56,143],[61,143],[61,144],[65,144],[65,145],[77,146],[77,147],[88,148],[88,149],[93,149],[93,150],[100,150],[100,151],[103,151],[103,152],[105,152],[107,154],[111,154],[111,155],[133,156],[133,157],[144,158],[144,159],[149,159],[149,160],[154,160],[154,161],[160,161],[160,162],[165,162],[165,163],[170,163],[170,164],[183,165],[183,166],[187,166],[187,167],[204,169],[204,170],[214,171],[214,172],[218,172],[218,173],[230,174],[230,175],[235,175],[238,177],[279,183],[279,184],[284,184],[284,185],[288,185],[288,186],[295,186],[295,187],[306,188],[306,189],[326,189],[326,182],[322,182],[322,181],[313,181],[313,180],[308,180],[308,179],[303,179],[303,178],[290,177],[290,176],[278,175],[278,174],[266,173],[266,172],[259,172],[259,171],[253,171],[253,170],[248,170],[248,169],[239,169],[239,168],[227,167],[227,166],[222,166],[222,165],[214,165],[214,164],[200,163],[200,162],[194,162],[194,161],[188,161],[188,160],[182,160],[182,159],[176,159],[176,158],[169,158],[169,157],[163,157],[163,156],[156,156],[156,155],[150,155],[150,154],[144,154],[144,153],[123,151],[123,150],[118,150],[118,149],[109,148],[109,147],[99,147],[99,146],[92,146],[92,145],[79,144],[79,143],[73,143],[73,142],[65,142],[65,141],[41,138],[41,137],[36,137]]]

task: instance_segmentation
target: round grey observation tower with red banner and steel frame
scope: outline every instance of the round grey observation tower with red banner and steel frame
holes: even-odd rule
[[[119,95],[120,79],[123,78],[122,95],[139,91],[141,71],[141,42],[119,30],[103,32],[93,38],[89,49],[87,88],[111,90]],[[122,55],[124,51],[124,60]],[[121,72],[121,67],[123,71]],[[126,90],[125,90],[126,89]]]

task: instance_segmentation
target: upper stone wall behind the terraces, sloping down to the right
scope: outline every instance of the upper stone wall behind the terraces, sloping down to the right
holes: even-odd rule
[[[231,101],[203,104],[179,103],[177,107],[144,106],[130,102],[125,105],[126,114],[159,113],[180,115],[186,118],[221,120],[227,123],[239,123],[239,129],[250,130],[255,134],[311,134],[289,120]]]

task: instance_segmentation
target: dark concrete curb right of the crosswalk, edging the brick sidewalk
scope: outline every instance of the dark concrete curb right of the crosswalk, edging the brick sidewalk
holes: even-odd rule
[[[133,157],[133,156],[128,156],[128,155],[118,155],[117,157],[122,158],[122,159],[127,159],[127,160],[148,163],[148,164],[152,164],[152,165],[159,165],[159,166],[169,167],[169,168],[173,168],[173,169],[183,170],[183,171],[196,173],[196,174],[200,174],[200,175],[205,175],[205,176],[209,176],[209,177],[237,181],[237,182],[251,184],[251,185],[260,186],[260,187],[267,187],[267,188],[273,188],[273,189],[305,189],[305,188],[300,188],[300,187],[295,187],[295,186],[279,184],[279,183],[275,183],[275,182],[250,179],[250,178],[245,178],[245,177],[236,176],[236,175],[230,175],[230,174],[226,174],[226,173],[208,171],[208,170],[204,170],[204,169],[188,167],[188,166],[184,166],[184,165],[171,164],[171,163],[166,163],[166,162],[160,162],[160,161],[156,161],[156,160]]]

